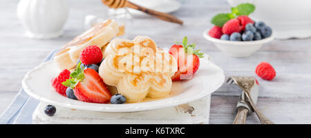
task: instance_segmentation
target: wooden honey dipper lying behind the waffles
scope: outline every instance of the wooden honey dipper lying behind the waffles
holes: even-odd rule
[[[170,14],[157,12],[149,8],[144,8],[142,6],[136,5],[135,3],[131,3],[130,1],[127,0],[102,0],[102,2],[106,6],[109,6],[109,8],[124,8],[124,7],[133,8],[135,10],[140,10],[142,12],[146,12],[147,14],[151,14],[153,17],[157,17],[158,19],[162,19],[164,21],[169,21],[172,23],[179,23],[180,25],[182,25],[182,21],[180,19],[173,17]]]

